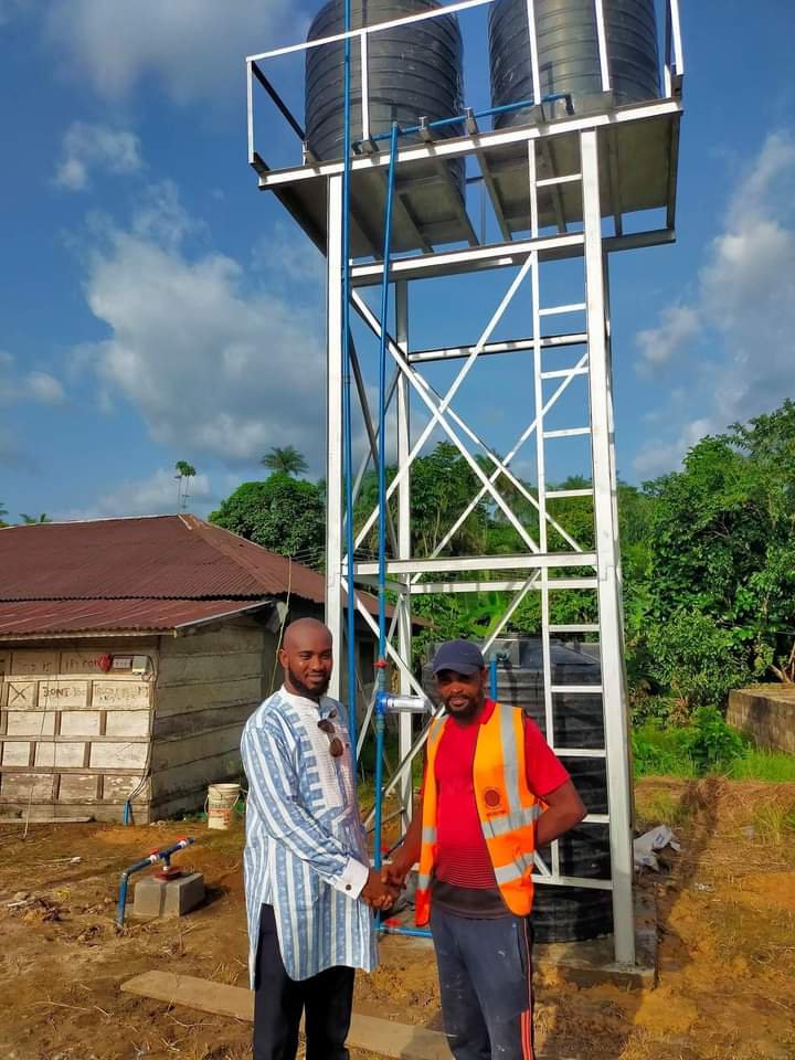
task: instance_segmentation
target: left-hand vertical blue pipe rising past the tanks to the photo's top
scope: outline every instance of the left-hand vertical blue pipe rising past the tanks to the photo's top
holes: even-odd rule
[[[351,28],[350,0],[344,0],[344,29]],[[346,551],[348,553],[348,731],[357,746],[356,602],[353,598],[353,443],[351,441],[350,369],[350,153],[351,153],[351,40],[344,41],[342,138],[342,463],[344,474]]]

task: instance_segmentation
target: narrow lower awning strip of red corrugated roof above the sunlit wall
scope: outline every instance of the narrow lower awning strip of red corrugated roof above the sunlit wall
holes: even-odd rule
[[[240,600],[50,600],[0,603],[0,637],[163,633],[243,614],[265,602]]]

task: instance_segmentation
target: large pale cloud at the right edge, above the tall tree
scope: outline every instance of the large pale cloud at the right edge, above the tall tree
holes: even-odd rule
[[[693,356],[697,340],[700,356]],[[723,231],[699,269],[692,304],[668,310],[638,342],[649,369],[664,368],[674,356],[680,365],[696,365],[689,368],[689,406],[668,405],[670,431],[638,454],[638,474],[670,469],[703,434],[768,412],[795,393],[792,136],[770,135],[738,182]]]

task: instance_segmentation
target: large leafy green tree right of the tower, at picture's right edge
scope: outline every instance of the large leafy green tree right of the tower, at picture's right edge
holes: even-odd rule
[[[655,628],[647,644],[657,677],[692,702],[703,699],[683,691],[702,672],[691,655],[698,650],[732,683],[771,669],[785,678],[795,638],[795,402],[703,438],[681,471],[647,492]],[[700,647],[672,658],[665,643],[671,629]],[[727,689],[712,687],[722,700]]]

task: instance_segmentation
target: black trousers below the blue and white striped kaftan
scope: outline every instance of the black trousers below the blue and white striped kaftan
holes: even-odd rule
[[[305,1016],[306,1060],[348,1060],[353,968],[296,982],[285,972],[272,905],[259,914],[254,994],[254,1060],[295,1060]]]

